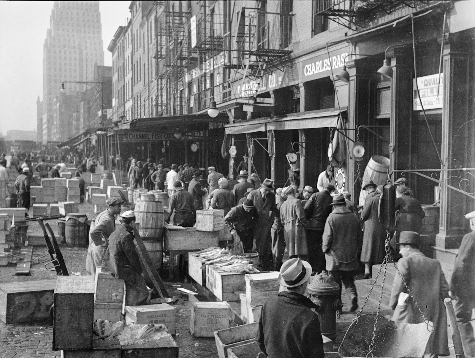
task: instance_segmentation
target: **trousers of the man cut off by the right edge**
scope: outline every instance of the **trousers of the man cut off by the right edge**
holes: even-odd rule
[[[470,324],[472,310],[475,308],[475,297],[457,297],[455,301],[455,316],[457,318],[462,346],[466,356],[475,355],[474,330]]]

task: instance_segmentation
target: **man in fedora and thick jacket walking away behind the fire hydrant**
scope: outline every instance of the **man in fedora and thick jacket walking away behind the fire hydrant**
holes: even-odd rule
[[[351,301],[350,311],[353,312],[358,308],[353,272],[360,267],[361,224],[360,219],[346,207],[342,193],[333,197],[332,205],[333,212],[328,216],[323,231],[322,251],[327,271],[340,286],[340,301],[343,283]]]

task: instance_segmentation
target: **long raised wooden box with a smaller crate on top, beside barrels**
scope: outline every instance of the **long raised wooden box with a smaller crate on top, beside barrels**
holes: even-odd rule
[[[163,246],[168,251],[198,251],[218,246],[218,232],[197,231],[196,227],[165,225]]]

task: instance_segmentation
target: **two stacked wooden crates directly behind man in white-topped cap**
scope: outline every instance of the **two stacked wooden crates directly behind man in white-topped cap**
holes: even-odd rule
[[[121,320],[125,282],[110,273],[95,271],[94,320]]]

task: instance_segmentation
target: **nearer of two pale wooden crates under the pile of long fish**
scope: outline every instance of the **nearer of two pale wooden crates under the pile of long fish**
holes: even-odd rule
[[[206,265],[206,287],[219,301],[239,301],[239,293],[246,292],[244,275],[245,273],[219,273],[212,265]]]

